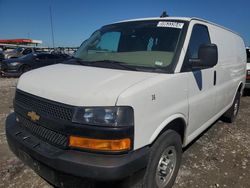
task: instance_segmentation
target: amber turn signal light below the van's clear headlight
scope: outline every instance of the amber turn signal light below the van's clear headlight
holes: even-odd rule
[[[69,146],[99,151],[126,151],[131,149],[130,138],[117,140],[92,139],[78,136],[69,137]]]

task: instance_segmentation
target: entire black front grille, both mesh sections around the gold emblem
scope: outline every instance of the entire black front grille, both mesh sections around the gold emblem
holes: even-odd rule
[[[67,135],[62,124],[71,123],[74,107],[37,97],[17,90],[14,110],[20,125],[34,136],[60,148],[67,147]],[[39,114],[37,122],[30,120],[28,112]]]

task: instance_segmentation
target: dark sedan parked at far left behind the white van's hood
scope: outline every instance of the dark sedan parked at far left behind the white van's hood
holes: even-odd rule
[[[31,53],[19,58],[6,59],[0,62],[2,76],[20,76],[24,72],[47,65],[63,62],[65,54]]]

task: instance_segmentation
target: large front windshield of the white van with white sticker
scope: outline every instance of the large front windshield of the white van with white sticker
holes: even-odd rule
[[[184,23],[140,21],[104,26],[84,41],[75,58],[165,69],[173,62]],[[94,63],[93,63],[94,64]]]

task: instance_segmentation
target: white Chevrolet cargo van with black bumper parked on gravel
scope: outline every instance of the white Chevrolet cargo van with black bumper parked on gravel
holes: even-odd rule
[[[197,18],[106,25],[64,63],[25,73],[6,120],[11,150],[56,186],[120,180],[174,184],[182,148],[222,117],[246,80],[236,33]]]

